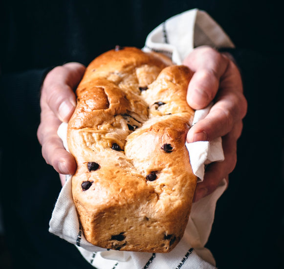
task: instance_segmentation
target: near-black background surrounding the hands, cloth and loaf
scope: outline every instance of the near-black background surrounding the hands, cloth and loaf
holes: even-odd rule
[[[36,137],[46,71],[70,61],[87,65],[117,44],[143,47],[154,27],[196,7],[235,43],[228,51],[248,100],[237,167],[207,247],[220,269],[284,268],[281,8],[216,0],[0,2],[0,268],[92,268],[48,233],[61,185]]]

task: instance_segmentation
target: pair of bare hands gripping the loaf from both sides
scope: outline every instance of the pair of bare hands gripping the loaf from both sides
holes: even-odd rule
[[[194,202],[211,194],[222,179],[228,180],[237,162],[237,140],[242,130],[242,118],[247,102],[243,96],[238,67],[225,54],[211,47],[194,49],[183,64],[195,74],[187,91],[188,104],[202,109],[213,99],[215,104],[209,114],[195,124],[187,134],[188,142],[210,141],[222,136],[225,160],[206,168],[203,182],[197,184]],[[76,107],[74,90],[81,81],[86,67],[67,63],[53,68],[45,77],[41,95],[41,123],[38,139],[45,161],[60,174],[62,185],[65,177],[76,170],[74,157],[68,153],[57,135],[61,122],[68,122]]]

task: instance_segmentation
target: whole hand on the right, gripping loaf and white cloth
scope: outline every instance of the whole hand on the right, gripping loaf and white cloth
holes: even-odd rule
[[[211,194],[222,179],[228,180],[234,170],[247,102],[239,69],[225,54],[201,46],[194,49],[183,64],[195,72],[188,86],[188,104],[198,110],[215,101],[208,115],[189,130],[187,142],[211,141],[221,136],[225,156],[224,161],[207,166],[204,180],[197,184],[194,197],[197,202]]]

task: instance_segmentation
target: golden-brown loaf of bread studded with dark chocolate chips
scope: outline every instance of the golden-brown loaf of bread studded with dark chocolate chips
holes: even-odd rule
[[[169,252],[183,236],[197,183],[185,147],[192,75],[133,47],[87,67],[67,142],[77,162],[72,195],[91,244]]]

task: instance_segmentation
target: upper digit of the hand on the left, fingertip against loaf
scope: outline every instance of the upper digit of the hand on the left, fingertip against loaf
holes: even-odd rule
[[[43,85],[45,102],[51,111],[67,122],[76,107],[74,88],[82,79],[85,67],[78,63],[68,63],[55,67],[46,76]]]

